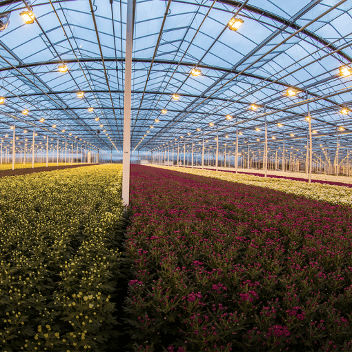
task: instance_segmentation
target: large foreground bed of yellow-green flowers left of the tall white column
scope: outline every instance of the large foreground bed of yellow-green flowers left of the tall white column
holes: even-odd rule
[[[0,179],[1,351],[104,351],[121,209],[121,166]]]

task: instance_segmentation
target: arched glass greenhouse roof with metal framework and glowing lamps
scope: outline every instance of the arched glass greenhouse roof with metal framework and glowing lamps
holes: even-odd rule
[[[239,151],[262,150],[266,119],[268,148],[281,151],[284,140],[302,155],[310,114],[314,153],[347,153],[351,1],[133,5],[131,150],[190,146],[203,135],[208,147],[217,134],[220,148],[234,149],[236,130]],[[39,136],[121,150],[126,8],[116,0],[0,1],[8,19],[2,139],[16,118],[20,141],[34,127]]]

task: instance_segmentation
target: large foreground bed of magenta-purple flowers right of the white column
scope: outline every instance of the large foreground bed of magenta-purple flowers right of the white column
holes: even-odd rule
[[[351,351],[351,208],[131,168],[133,351]]]

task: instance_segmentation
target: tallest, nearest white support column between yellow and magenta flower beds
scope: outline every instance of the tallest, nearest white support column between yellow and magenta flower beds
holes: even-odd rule
[[[126,59],[125,59],[125,95],[124,95],[124,148],[122,156],[122,204],[130,204],[130,110],[131,75],[133,44],[133,0],[127,0],[126,12]]]

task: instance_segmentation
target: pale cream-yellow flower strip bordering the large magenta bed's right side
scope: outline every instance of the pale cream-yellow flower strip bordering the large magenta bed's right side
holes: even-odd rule
[[[330,184],[314,182],[307,183],[289,178],[273,178],[261,177],[257,175],[248,175],[244,173],[228,173],[215,170],[202,170],[199,168],[173,168],[172,166],[155,166],[166,168],[168,170],[177,170],[181,173],[192,175],[201,175],[206,177],[214,177],[224,181],[237,182],[251,186],[260,186],[273,190],[280,190],[285,193],[291,193],[300,197],[315,199],[331,204],[341,204],[346,206],[352,205],[352,188],[348,186],[339,186],[338,184]]]

